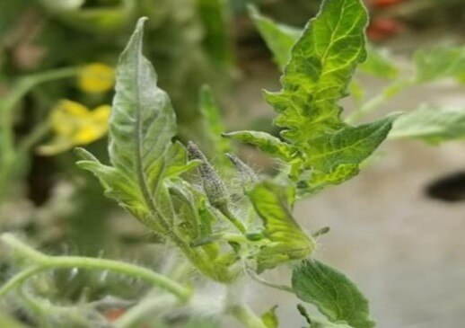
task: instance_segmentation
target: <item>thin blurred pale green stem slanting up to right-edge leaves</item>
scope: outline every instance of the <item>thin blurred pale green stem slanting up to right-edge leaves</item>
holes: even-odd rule
[[[383,102],[390,100],[392,97],[403,91],[406,87],[414,84],[412,80],[399,80],[388,85],[372,99],[362,105],[358,110],[347,116],[347,123],[354,123],[357,120],[363,119],[366,115],[379,109]]]

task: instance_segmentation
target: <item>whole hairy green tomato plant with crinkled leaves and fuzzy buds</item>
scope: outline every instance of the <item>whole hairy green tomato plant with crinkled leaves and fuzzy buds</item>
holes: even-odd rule
[[[388,137],[432,142],[462,137],[465,129],[459,118],[464,113],[451,110],[440,111],[443,120],[437,120],[438,111],[424,108],[401,117],[390,113],[379,120],[358,120],[409,85],[443,76],[462,79],[463,49],[420,51],[415,78],[397,80],[396,67],[366,45],[368,14],[361,0],[324,1],[303,31],[278,25],[258,12],[252,15],[283,70],[281,90],[265,93],[277,114],[273,124],[281,129],[279,136],[226,132],[214,95],[204,87],[200,96],[204,132],[215,153],[224,156],[212,160],[195,143],[181,142],[170,96],[144,56],[143,17],[116,68],[108,161],[81,147],[75,150],[77,165],[101,182],[105,195],[145,226],[163,245],[163,253],[175,254],[171,267],[159,273],[118,260],[48,255],[6,233],[0,242],[20,270],[5,279],[0,297],[15,296],[15,306],[40,327],[175,326],[173,317],[188,327],[218,327],[220,318],[230,315],[243,327],[276,328],[275,304],[259,315],[244,296],[246,281],[254,280],[293,294],[295,314],[303,315],[302,321],[311,328],[375,325],[368,300],[355,283],[314,257],[317,239],[329,229],[314,226],[315,232],[307,233],[293,209],[300,199],[353,178]],[[394,82],[346,118],[340,101],[354,83],[358,66]],[[57,111],[60,117],[75,113],[90,121],[85,129],[74,130],[72,140],[101,136],[97,119],[106,118],[108,107],[95,114],[97,118],[79,104],[66,102],[62,107],[65,110]],[[83,128],[79,122],[77,127]],[[234,155],[232,139],[273,158],[279,172],[256,173]],[[290,281],[264,278],[264,272],[280,266],[290,270]],[[97,301],[55,304],[46,297],[56,275],[45,272],[60,270],[118,273],[144,283],[142,290],[152,290],[133,300],[103,295]],[[212,287],[215,295],[208,293]],[[299,302],[317,311],[310,313]]]

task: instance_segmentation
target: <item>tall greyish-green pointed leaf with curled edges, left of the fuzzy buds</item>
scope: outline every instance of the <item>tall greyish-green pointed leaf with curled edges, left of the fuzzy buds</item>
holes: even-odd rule
[[[83,150],[78,165],[94,173],[106,190],[141,222],[165,234],[175,216],[164,181],[197,166],[187,151],[172,143],[176,118],[166,93],[157,86],[154,67],[142,55],[145,19],[119,58],[116,94],[110,116],[111,166]]]

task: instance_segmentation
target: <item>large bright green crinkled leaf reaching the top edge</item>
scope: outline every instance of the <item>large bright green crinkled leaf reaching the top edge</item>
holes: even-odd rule
[[[258,22],[267,23],[268,30],[286,33],[273,22],[257,17]],[[353,177],[359,164],[373,153],[391,128],[393,117],[358,127],[349,126],[340,118],[342,108],[338,102],[347,95],[355,67],[366,58],[367,20],[361,0],[326,0],[290,51],[281,79],[283,89],[266,94],[278,113],[276,126],[284,129],[285,141],[298,150],[288,161],[292,163],[291,177],[297,181],[301,194]],[[275,30],[272,31],[277,33]],[[280,40],[266,35],[268,42]],[[295,33],[287,31],[287,37],[295,38]],[[288,39],[287,44],[290,43]],[[285,49],[285,44],[280,46]],[[277,55],[284,57],[285,53],[280,51]],[[250,133],[240,136],[260,145]],[[264,144],[262,139],[259,141]]]

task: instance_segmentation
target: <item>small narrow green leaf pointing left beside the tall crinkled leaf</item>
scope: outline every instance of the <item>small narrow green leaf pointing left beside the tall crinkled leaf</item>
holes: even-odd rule
[[[224,137],[232,137],[250,145],[256,146],[265,154],[291,161],[296,151],[293,146],[273,137],[266,132],[258,131],[235,131],[224,133]]]

